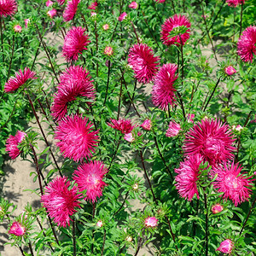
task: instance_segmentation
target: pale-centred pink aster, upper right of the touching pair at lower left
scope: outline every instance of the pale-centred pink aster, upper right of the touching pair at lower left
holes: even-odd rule
[[[73,179],[78,183],[80,191],[86,190],[84,200],[95,202],[97,197],[102,196],[102,189],[107,186],[102,181],[108,168],[102,161],[91,161],[89,164],[82,164],[78,170],[73,172]]]

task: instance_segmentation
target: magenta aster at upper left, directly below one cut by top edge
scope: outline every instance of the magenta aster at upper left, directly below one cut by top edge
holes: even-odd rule
[[[77,61],[85,46],[90,43],[89,36],[84,34],[85,28],[73,26],[64,39],[62,55],[66,61]]]

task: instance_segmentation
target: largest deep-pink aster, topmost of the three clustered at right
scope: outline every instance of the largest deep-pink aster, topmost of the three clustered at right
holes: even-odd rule
[[[212,165],[234,157],[234,141],[229,125],[218,119],[203,119],[189,130],[183,149],[187,155],[201,154]]]

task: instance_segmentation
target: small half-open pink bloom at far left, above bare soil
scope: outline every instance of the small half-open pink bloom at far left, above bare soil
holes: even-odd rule
[[[6,151],[9,152],[9,156],[11,159],[15,159],[20,154],[20,149],[18,145],[22,142],[22,140],[26,137],[26,132],[17,131],[15,136],[10,135],[6,140]]]

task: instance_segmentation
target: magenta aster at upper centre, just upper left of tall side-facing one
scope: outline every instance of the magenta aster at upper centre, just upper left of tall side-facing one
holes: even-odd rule
[[[154,79],[158,71],[160,57],[147,44],[134,44],[129,50],[128,64],[139,83],[146,84]]]

